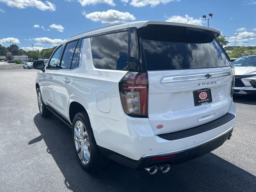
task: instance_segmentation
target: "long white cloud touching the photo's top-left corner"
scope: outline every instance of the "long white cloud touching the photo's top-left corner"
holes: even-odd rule
[[[40,10],[46,11],[55,11],[55,5],[49,1],[42,2],[40,0],[0,0],[7,4],[10,7],[16,7],[19,9],[24,9],[28,7],[36,7]]]

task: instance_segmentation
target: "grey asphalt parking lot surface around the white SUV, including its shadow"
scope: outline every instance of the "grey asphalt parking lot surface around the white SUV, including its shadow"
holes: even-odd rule
[[[220,148],[168,173],[149,175],[112,163],[80,168],[71,129],[40,116],[36,70],[0,71],[0,191],[256,191],[256,96],[235,96],[236,126]]]

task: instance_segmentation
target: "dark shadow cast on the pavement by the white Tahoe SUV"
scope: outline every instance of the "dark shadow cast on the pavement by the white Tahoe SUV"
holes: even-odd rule
[[[149,175],[112,162],[97,173],[88,174],[78,163],[72,145],[71,129],[55,116],[34,116],[41,136],[29,144],[44,140],[72,191],[255,191],[256,176],[212,154],[174,165],[168,173]],[[58,178],[56,178],[58,179]]]

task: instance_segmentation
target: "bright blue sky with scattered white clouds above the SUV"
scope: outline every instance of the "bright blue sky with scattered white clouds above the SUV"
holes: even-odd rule
[[[0,44],[35,49],[117,21],[158,20],[222,31],[230,45],[256,46],[256,0],[0,0]]]

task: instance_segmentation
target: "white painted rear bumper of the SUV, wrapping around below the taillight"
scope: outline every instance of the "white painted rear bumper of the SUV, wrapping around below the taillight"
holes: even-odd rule
[[[236,116],[236,109],[233,102],[230,105],[228,113]],[[101,130],[97,127],[99,126],[98,123],[96,124],[95,122],[100,122],[102,119],[98,116],[90,117],[90,119],[94,120],[91,123],[98,146],[108,149],[110,152],[106,152],[106,156],[121,164],[126,164],[126,158],[120,157],[127,157],[127,159],[136,162],[140,161],[142,157],[165,156],[190,150],[206,142],[210,142],[222,136],[222,134],[226,134],[235,125],[235,118],[229,119],[228,122],[217,121],[214,128],[210,126],[207,126],[207,128],[200,127],[199,132],[198,130],[196,132],[189,130],[189,133],[182,134],[182,138],[168,140],[168,138],[164,139],[154,134],[148,118],[124,116],[120,121],[114,122],[105,118],[104,125],[107,128],[103,129],[103,126],[100,124]],[[201,132],[202,129],[204,132]],[[114,158],[114,156],[119,157]]]

